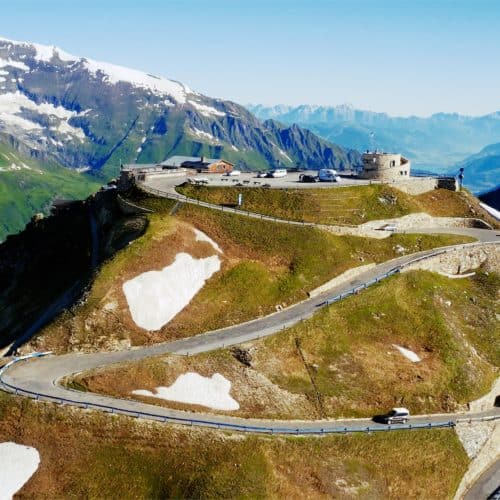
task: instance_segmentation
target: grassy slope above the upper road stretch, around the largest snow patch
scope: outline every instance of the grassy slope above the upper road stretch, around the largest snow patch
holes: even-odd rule
[[[70,339],[88,349],[106,347],[99,339],[113,336],[130,338],[135,345],[186,337],[274,312],[277,304],[302,300],[307,291],[353,266],[396,257],[397,245],[413,252],[469,241],[449,235],[393,235],[385,240],[340,237],[315,228],[249,219],[191,205],[183,206],[173,218],[168,215],[172,207],[169,201],[151,199],[150,203],[142,203],[156,210],[146,235],[104,265],[87,303],[42,330],[37,349],[71,349]],[[195,244],[192,226],[222,246],[222,271],[163,329],[145,332],[130,317],[122,284],[142,272],[162,269],[180,251],[197,257],[211,255],[210,247],[206,253],[206,248]],[[117,304],[112,312],[104,308],[110,302]]]

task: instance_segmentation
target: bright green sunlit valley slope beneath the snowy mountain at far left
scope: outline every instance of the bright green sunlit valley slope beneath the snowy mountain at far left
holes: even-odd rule
[[[25,164],[31,170],[10,170]],[[23,158],[0,144],[0,241],[23,229],[36,212],[48,212],[55,198],[83,199],[100,187],[84,174],[54,163]]]

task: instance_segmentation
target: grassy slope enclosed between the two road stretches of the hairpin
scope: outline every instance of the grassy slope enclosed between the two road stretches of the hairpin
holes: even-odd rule
[[[452,411],[485,393],[498,374],[499,286],[500,276],[492,273],[463,280],[405,273],[246,345],[251,368],[226,350],[111,367],[79,376],[77,384],[131,397],[134,389],[168,386],[195,371],[228,378],[241,406],[234,414],[244,417],[372,416],[401,405],[412,413]],[[393,344],[415,351],[422,361],[410,362]]]

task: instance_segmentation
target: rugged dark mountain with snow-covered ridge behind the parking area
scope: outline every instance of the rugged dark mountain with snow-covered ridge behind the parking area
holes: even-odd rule
[[[0,133],[67,167],[114,172],[120,162],[176,153],[253,169],[342,169],[359,160],[307,130],[291,131],[173,80],[0,39]]]

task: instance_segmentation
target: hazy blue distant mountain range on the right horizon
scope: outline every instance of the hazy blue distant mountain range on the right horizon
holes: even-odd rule
[[[437,173],[455,172],[464,158],[500,140],[500,112],[479,117],[438,113],[428,118],[403,118],[351,105],[249,105],[248,109],[263,120],[308,127],[346,148],[401,152],[412,160],[415,168]],[[466,175],[466,183],[477,191],[488,184],[494,186],[495,179],[479,168],[474,175]]]

